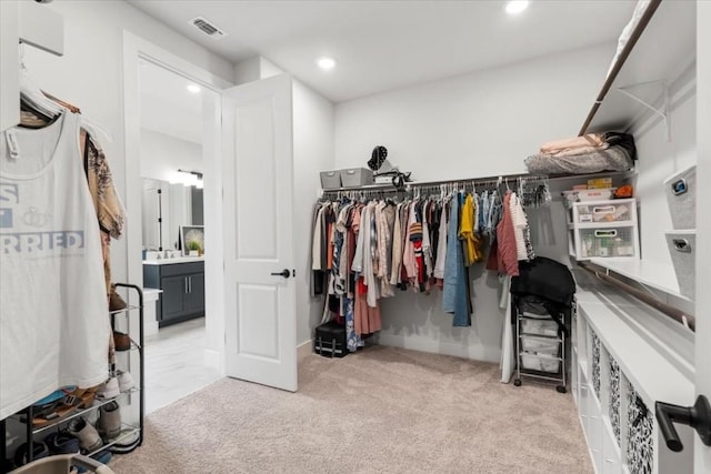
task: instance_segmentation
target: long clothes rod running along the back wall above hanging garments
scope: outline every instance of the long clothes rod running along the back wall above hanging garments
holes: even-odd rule
[[[483,178],[465,178],[465,179],[449,179],[449,180],[438,180],[438,181],[411,181],[405,182],[404,186],[407,191],[410,188],[427,188],[427,186],[435,186],[440,184],[483,184],[483,183],[498,183],[501,180],[501,183],[504,184],[507,181],[515,183],[518,179],[529,179],[529,180],[549,180],[549,181],[562,181],[562,180],[582,180],[588,178],[597,178],[597,177],[623,177],[629,178],[634,174],[634,170],[628,171],[602,171],[599,173],[585,173],[585,174],[529,174],[529,173],[518,173],[518,174],[499,174],[495,177],[483,177]],[[324,189],[323,193],[336,193],[339,191],[397,191],[395,186],[392,183],[382,183],[382,184],[364,184],[360,186],[346,186],[346,188],[332,188]]]

